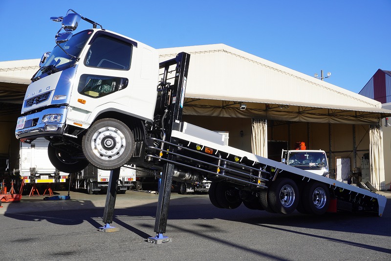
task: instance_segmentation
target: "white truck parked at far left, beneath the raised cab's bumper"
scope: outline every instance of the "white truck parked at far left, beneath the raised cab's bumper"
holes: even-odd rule
[[[49,142],[38,138],[31,143],[20,144],[19,172],[26,184],[65,183],[68,174],[56,169],[48,158],[47,146]]]

